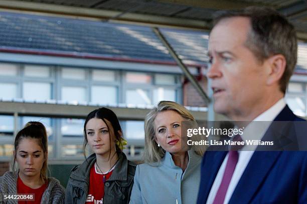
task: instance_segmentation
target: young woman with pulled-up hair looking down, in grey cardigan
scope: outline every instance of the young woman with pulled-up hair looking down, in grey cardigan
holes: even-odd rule
[[[64,187],[57,179],[47,176],[47,160],[46,128],[41,122],[28,122],[15,137],[12,166],[14,170],[0,177],[0,202],[4,204],[64,203]],[[16,163],[18,170],[15,169]],[[5,199],[5,195],[16,194],[22,195],[20,196],[22,199],[13,199],[12,196]],[[28,196],[25,197],[23,194]],[[34,195],[32,199],[31,194]]]

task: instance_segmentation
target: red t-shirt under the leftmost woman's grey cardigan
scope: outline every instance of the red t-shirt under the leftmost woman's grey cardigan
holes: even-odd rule
[[[39,188],[33,189],[26,185],[20,177],[17,179],[17,193],[18,194],[25,194],[25,193],[34,193],[35,200],[34,201],[21,201],[18,200],[18,204],[40,204],[42,200],[42,196],[44,191],[47,188],[46,182]]]

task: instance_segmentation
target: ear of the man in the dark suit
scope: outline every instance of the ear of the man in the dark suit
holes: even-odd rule
[[[268,63],[268,77],[266,84],[272,85],[278,83],[285,71],[285,57],[282,54],[275,54],[266,59],[266,62]]]

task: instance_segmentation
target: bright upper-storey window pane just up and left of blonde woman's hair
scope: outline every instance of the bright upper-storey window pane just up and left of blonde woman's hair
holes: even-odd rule
[[[151,101],[147,90],[136,88],[126,91],[126,103],[151,104]]]

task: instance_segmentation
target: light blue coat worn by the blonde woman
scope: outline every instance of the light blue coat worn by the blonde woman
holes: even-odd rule
[[[185,172],[175,165],[169,152],[158,166],[157,163],[137,165],[129,203],[196,203],[202,156],[193,150],[189,150],[188,154],[189,163]]]

